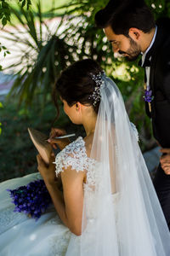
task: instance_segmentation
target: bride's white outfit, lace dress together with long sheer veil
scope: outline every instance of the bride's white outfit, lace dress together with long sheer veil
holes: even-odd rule
[[[54,207],[37,222],[13,212],[6,189],[40,177],[35,173],[0,184],[1,256],[170,255],[169,230],[122,95],[105,74],[96,81],[101,99],[90,157],[78,137],[55,159],[56,175],[67,166],[86,172],[82,236],[71,234]]]

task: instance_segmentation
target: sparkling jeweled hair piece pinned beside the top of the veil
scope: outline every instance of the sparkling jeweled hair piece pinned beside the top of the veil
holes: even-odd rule
[[[93,99],[94,102],[93,102],[93,105],[94,107],[96,106],[97,102],[100,101],[101,99],[101,95],[100,95],[100,89],[102,88],[103,84],[104,84],[104,81],[102,79],[102,76],[105,74],[104,72],[103,73],[99,73],[97,75],[94,75],[94,73],[90,73],[91,74],[91,77],[92,79],[94,80],[96,86],[94,87],[94,92],[91,96],[88,97],[88,99]]]

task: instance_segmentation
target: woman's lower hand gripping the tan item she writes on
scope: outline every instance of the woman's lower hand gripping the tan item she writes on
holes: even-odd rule
[[[40,154],[37,154],[37,170],[41,173],[45,183],[56,183],[57,177],[55,174],[55,165],[54,165],[54,155],[51,156],[49,160],[49,165],[47,166],[42,160]]]

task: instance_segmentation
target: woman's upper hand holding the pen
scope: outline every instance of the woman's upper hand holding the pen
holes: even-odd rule
[[[64,129],[52,128],[49,134],[48,143],[50,143],[52,147],[55,149],[57,148],[56,147],[56,144],[57,144],[58,147],[62,150],[63,148],[65,148],[65,146],[67,146],[71,142],[66,137],[61,139],[57,139],[56,137],[63,136],[65,134],[66,134],[66,131]]]

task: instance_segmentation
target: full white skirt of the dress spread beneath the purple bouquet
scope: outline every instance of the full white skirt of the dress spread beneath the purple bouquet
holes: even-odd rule
[[[38,178],[40,174],[33,173],[0,183],[1,256],[63,256],[67,251],[72,234],[53,206],[37,221],[25,213],[14,212],[6,189],[15,189]]]

